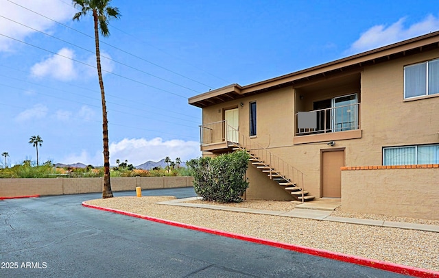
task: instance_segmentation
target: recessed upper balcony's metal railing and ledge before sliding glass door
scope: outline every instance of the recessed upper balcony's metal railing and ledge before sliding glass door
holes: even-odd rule
[[[316,117],[316,125],[312,128],[298,128],[296,113],[294,144],[361,138],[359,111],[360,103],[309,111]]]

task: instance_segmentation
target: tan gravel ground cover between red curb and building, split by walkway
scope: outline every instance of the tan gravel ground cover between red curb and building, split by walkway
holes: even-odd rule
[[[95,199],[86,201],[86,203],[246,236],[439,271],[439,233],[155,204],[171,199],[175,198],[115,197]],[[225,205],[191,201],[191,203],[193,202]],[[296,203],[245,201],[226,205],[287,212],[293,210]],[[437,220],[396,218],[375,214],[348,214],[343,212],[342,208],[335,210],[332,215],[439,225]]]

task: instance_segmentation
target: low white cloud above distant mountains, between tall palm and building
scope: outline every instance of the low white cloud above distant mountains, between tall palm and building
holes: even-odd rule
[[[112,142],[110,144],[112,164],[119,159],[121,161],[128,160],[133,165],[139,165],[148,160],[157,162],[167,156],[171,157],[171,160],[180,157],[182,161],[200,157],[200,143],[177,139],[163,141],[162,138],[154,138],[152,140],[125,138],[120,142]]]

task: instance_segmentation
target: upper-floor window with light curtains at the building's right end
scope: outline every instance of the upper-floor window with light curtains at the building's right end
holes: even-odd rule
[[[404,99],[439,94],[439,59],[404,67]]]

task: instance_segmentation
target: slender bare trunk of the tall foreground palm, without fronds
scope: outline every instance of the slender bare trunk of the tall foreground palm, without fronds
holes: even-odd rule
[[[101,55],[99,51],[99,29],[97,26],[97,12],[93,10],[93,19],[95,21],[95,45],[96,45],[96,63],[97,75],[99,77],[99,86],[101,87],[102,98],[102,133],[104,138],[104,190],[102,191],[102,198],[112,198],[111,184],[110,184],[110,151],[108,149],[108,121],[107,109],[105,104],[104,80],[102,79],[101,71]]]

